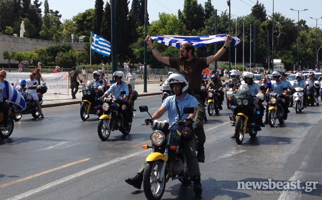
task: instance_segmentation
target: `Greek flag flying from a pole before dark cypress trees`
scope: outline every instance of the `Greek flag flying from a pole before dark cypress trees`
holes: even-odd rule
[[[111,43],[108,42],[105,38],[92,34],[92,44],[90,49],[95,51],[96,53],[109,56],[111,54]]]

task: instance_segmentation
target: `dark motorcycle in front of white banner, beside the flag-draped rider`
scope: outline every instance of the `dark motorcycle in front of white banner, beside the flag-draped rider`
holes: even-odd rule
[[[14,121],[19,121],[23,114],[31,114],[33,118],[39,118],[40,111],[38,110],[37,105],[32,99],[32,96],[30,94],[30,90],[36,90],[38,101],[40,106],[43,103],[43,94],[47,92],[47,86],[43,83],[43,85],[38,85],[37,88],[29,87],[25,88],[26,81],[25,80],[19,80],[16,83],[16,89],[18,92],[21,92],[24,100],[26,101],[26,109],[23,111],[18,109],[18,105],[13,105],[13,111],[11,112],[11,116]]]

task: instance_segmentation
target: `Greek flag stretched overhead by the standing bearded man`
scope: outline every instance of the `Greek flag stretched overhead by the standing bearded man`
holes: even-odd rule
[[[191,43],[194,47],[202,47],[211,43],[221,43],[226,41],[227,34],[213,36],[170,36],[170,35],[150,35],[151,39],[170,47],[180,48],[180,44]],[[235,47],[241,42],[233,37]]]

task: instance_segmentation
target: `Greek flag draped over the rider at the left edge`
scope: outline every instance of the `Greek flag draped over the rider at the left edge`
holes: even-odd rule
[[[26,101],[22,97],[22,95],[7,81],[4,81],[5,92],[7,94],[7,100],[10,103],[14,103],[18,105],[18,109],[20,111],[26,109]]]

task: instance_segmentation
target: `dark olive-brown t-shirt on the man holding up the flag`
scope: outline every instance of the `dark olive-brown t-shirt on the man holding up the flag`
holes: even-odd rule
[[[190,61],[180,57],[169,57],[169,62],[172,68],[186,75],[189,80],[188,90],[200,91],[202,70],[209,66],[207,65],[207,57],[192,58]]]

